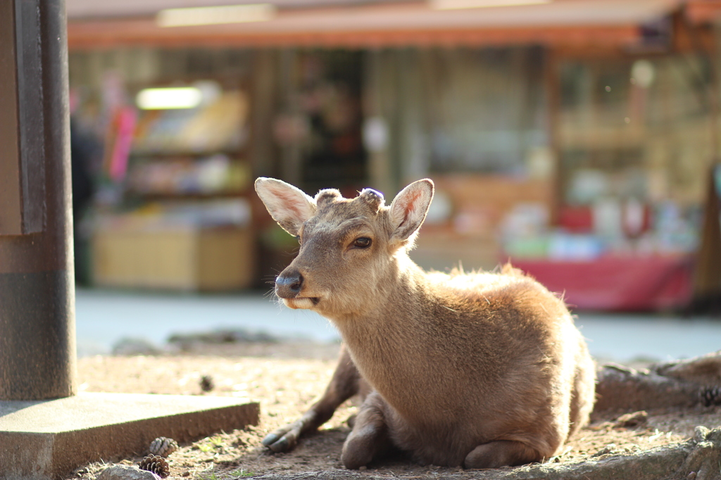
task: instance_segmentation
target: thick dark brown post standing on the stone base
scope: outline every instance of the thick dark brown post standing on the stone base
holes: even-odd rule
[[[64,0],[0,1],[0,400],[75,394]]]

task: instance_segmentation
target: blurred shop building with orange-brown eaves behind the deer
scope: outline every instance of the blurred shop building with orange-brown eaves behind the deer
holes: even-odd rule
[[[578,308],[718,292],[716,0],[67,0],[98,285],[265,285],[255,177],[415,179],[424,267],[511,259]],[[212,7],[212,8],[200,8]]]

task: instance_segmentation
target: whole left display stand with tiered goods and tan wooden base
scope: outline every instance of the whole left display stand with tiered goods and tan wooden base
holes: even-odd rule
[[[95,281],[123,288],[248,288],[255,231],[247,94],[237,86],[195,108],[133,115],[126,117],[133,132],[129,151],[113,158],[118,172],[125,168],[112,178],[122,194],[94,232]]]

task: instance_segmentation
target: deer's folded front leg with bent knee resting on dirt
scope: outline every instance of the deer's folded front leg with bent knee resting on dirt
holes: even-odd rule
[[[340,459],[345,468],[361,468],[392,446],[386,417],[381,407],[384,400],[373,391],[361,405],[355,424],[343,444]]]

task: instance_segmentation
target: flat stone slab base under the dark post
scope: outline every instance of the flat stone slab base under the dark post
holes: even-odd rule
[[[0,401],[0,479],[64,479],[85,463],[147,453],[156,437],[182,444],[257,425],[259,417],[259,404],[221,396],[84,393]]]

